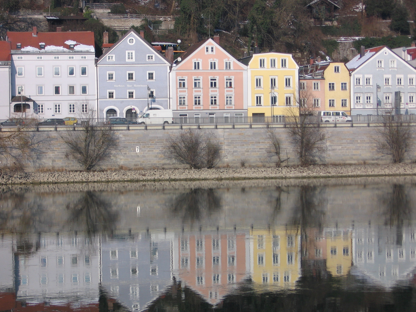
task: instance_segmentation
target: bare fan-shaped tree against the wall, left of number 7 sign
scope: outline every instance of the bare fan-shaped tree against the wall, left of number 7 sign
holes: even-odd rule
[[[67,157],[75,159],[84,170],[92,170],[111,157],[119,143],[113,131],[96,124],[96,111],[88,101],[77,103],[78,116],[82,116],[82,127],[66,131],[61,135],[68,146]],[[80,130],[78,130],[80,129]]]

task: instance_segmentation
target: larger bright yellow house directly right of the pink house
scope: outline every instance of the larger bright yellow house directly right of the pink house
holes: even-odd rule
[[[299,66],[288,53],[256,53],[240,59],[247,65],[248,116],[287,115],[297,106]]]

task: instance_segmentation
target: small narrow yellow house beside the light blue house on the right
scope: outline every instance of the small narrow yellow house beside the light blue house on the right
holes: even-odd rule
[[[325,110],[345,111],[350,115],[350,77],[347,67],[342,62],[329,62],[325,67]]]

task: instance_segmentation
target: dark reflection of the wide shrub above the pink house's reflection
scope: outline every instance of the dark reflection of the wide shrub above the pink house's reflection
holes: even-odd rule
[[[179,215],[183,222],[199,221],[221,209],[221,197],[212,189],[193,188],[173,200],[171,210]]]

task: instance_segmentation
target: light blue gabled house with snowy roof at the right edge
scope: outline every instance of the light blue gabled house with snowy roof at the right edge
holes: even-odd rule
[[[351,115],[416,114],[416,69],[388,47],[362,47],[346,66],[351,74]],[[395,112],[397,91],[400,110]]]

